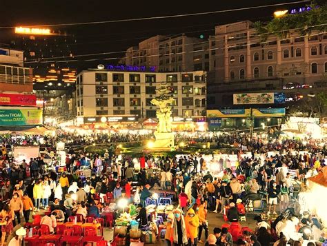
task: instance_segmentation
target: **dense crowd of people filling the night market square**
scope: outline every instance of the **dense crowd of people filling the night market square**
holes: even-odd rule
[[[49,141],[47,143],[56,141],[43,139]],[[138,205],[137,219],[141,227],[146,226],[150,222],[146,205],[159,189],[175,192],[178,200],[177,209],[167,217],[168,245],[197,245],[204,241],[208,245],[224,246],[232,245],[233,241],[239,245],[268,246],[267,242],[276,241],[277,245],[284,245],[290,240],[297,242],[299,238],[295,240],[293,234],[306,228],[310,228],[311,234],[315,230],[322,232],[319,218],[301,209],[297,211],[294,202],[300,192],[308,191],[307,179],[326,165],[326,145],[304,144],[295,139],[270,143],[258,139],[248,143],[246,134],[222,134],[212,141],[234,145],[239,150],[237,163],[226,166],[222,157],[212,158],[209,163],[199,153],[172,158],[152,154],[132,158],[110,151],[103,156],[72,152],[66,156],[66,172],[47,172],[42,158],[37,156],[30,161],[15,162],[6,150],[6,145],[12,143],[3,138],[1,196],[8,203],[4,203],[1,210],[1,218],[6,220],[6,225],[1,225],[1,245],[15,225],[28,223],[34,213],[49,211],[50,214],[42,217],[41,224],[55,232],[57,222],[67,221],[72,214],[81,214],[84,219],[90,215],[99,218],[104,207],[122,198],[128,205]],[[241,157],[248,151],[250,156]],[[268,151],[277,152],[264,158],[255,156]],[[212,172],[210,165],[217,166],[218,172]],[[112,195],[112,201],[108,201],[108,194]],[[208,212],[220,213],[219,218],[237,223],[262,198],[266,198],[266,209],[262,212],[275,218],[275,223],[270,225],[271,232],[260,216],[257,230],[245,231],[237,240],[225,227],[215,228],[213,234],[209,234]],[[297,225],[297,231],[286,230],[290,225]],[[203,231],[204,240],[201,240]],[[321,234],[318,234],[302,238],[319,240]]]

